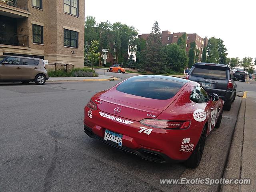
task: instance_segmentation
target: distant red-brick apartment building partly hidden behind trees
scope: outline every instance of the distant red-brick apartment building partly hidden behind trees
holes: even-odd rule
[[[183,34],[185,34],[185,32],[181,32],[181,33],[175,33],[174,32],[173,34],[171,34],[170,31],[162,31],[162,35],[161,35],[160,38],[161,38],[162,44],[169,45],[171,43],[177,43],[178,38],[181,37]],[[149,36],[150,36],[150,34],[141,34],[138,37],[142,38],[144,40],[148,40]],[[204,50],[204,48],[207,47],[207,44],[208,44],[208,38],[207,37],[202,38],[196,33],[188,33],[187,34],[187,39],[186,39],[186,52],[187,52],[187,54],[189,52],[191,42],[196,43],[196,48],[200,51],[200,53],[199,53],[199,62],[201,62],[202,61],[203,50]]]

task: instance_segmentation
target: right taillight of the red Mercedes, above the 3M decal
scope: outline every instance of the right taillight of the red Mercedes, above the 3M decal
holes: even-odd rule
[[[160,119],[144,119],[140,121],[142,125],[160,128],[160,129],[186,129],[190,125],[190,121],[168,121]]]

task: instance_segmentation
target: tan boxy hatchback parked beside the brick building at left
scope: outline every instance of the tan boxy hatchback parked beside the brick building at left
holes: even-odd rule
[[[48,73],[42,59],[0,56],[0,82],[21,81],[27,84],[34,81],[37,85],[43,85],[48,79]]]

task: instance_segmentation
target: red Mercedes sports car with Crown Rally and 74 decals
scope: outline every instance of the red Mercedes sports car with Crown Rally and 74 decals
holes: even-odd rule
[[[84,108],[91,138],[155,162],[195,168],[206,136],[218,128],[224,101],[197,82],[139,75],[95,94]]]

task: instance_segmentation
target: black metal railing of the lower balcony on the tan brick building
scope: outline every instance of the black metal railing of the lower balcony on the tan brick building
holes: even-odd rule
[[[28,47],[28,36],[0,31],[0,44]]]

